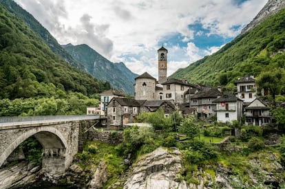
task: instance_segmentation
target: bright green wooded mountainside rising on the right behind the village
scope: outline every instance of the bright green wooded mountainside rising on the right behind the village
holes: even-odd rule
[[[279,2],[279,1],[276,1]],[[263,10],[267,10],[264,8]],[[277,10],[277,9],[276,9]],[[233,85],[244,75],[285,68],[285,9],[240,34],[211,56],[178,69],[169,78],[185,78],[206,85]]]

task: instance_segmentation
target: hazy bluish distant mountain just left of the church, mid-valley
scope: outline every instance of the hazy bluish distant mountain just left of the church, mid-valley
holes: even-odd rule
[[[134,78],[138,75],[124,63],[112,63],[88,45],[67,44],[63,47],[98,80],[108,81],[113,87],[134,94]]]

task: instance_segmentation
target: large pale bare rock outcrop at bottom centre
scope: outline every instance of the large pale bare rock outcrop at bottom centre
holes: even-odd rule
[[[182,168],[181,163],[177,148],[157,148],[132,166],[131,177],[125,182],[124,189],[186,189],[185,181],[176,181],[176,175]]]

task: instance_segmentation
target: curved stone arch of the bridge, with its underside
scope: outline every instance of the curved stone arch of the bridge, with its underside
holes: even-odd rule
[[[22,142],[34,135],[37,140],[43,146],[44,154],[52,153],[50,150],[57,148],[62,149],[60,153],[65,153],[65,149],[67,148],[67,141],[65,137],[61,134],[61,132],[54,127],[44,126],[44,127],[36,127],[34,129],[30,129],[25,131],[19,137],[17,137],[12,144],[6,148],[6,150],[0,155],[0,167],[3,162],[9,157],[9,155],[16,149]]]

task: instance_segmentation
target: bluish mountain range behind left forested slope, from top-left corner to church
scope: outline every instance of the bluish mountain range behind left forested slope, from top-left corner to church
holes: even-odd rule
[[[12,14],[24,21],[36,34],[39,34],[50,49],[52,49],[52,52],[61,56],[67,63],[70,63],[70,65],[73,65],[78,69],[87,71],[98,80],[110,82],[112,87],[116,89],[123,89],[129,94],[134,93],[134,78],[136,78],[137,75],[127,69],[123,63],[111,63],[96,51],[90,47],[85,47],[84,45],[84,47],[81,45],[78,45],[78,47],[73,47],[73,45],[61,46],[50,32],[48,32],[39,21],[34,19],[32,14],[23,10],[17,3],[12,0],[0,0],[0,3]],[[87,50],[88,53],[84,52],[84,50],[81,51],[81,47],[83,47],[84,50]],[[70,50],[72,51],[72,54],[69,53]],[[83,54],[84,56],[81,56]],[[94,62],[96,62],[95,67]]]

